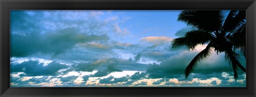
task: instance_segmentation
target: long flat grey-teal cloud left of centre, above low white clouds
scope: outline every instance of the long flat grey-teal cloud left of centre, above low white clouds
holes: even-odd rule
[[[145,71],[147,64],[141,64],[134,61],[123,60],[123,59],[102,59],[95,60],[87,63],[74,63],[71,66],[61,71],[63,74],[67,74],[70,71],[88,71],[92,72],[97,70],[93,75],[94,77],[102,77],[109,75],[111,72],[122,72],[126,71]]]

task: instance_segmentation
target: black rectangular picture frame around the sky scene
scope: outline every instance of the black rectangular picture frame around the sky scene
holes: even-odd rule
[[[10,87],[10,10],[246,10],[247,87]],[[255,0],[0,0],[0,96],[256,96]]]

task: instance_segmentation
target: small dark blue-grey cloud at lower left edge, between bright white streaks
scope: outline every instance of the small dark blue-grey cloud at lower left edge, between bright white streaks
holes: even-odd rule
[[[67,67],[65,64],[55,61],[43,66],[43,63],[31,60],[17,64],[11,63],[10,66],[11,72],[24,72],[26,76],[56,76],[58,75],[58,70]]]

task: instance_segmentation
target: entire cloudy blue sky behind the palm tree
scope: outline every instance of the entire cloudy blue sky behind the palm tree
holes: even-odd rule
[[[171,48],[192,30],[179,10],[12,10],[11,87],[246,87],[225,54]],[[246,60],[241,63],[246,67]]]

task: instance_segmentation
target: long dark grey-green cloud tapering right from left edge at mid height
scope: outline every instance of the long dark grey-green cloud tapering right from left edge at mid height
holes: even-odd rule
[[[58,55],[77,43],[104,41],[106,35],[86,35],[74,28],[57,30],[54,33],[11,34],[11,56],[26,56],[34,53]]]

